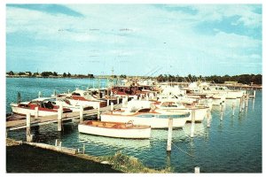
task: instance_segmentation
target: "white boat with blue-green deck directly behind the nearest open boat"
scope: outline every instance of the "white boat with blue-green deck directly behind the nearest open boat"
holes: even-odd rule
[[[189,112],[155,112],[151,108],[141,108],[137,111],[115,111],[101,114],[102,121],[129,122],[134,125],[151,126],[152,128],[168,128],[168,118],[173,119],[173,127],[184,127]]]

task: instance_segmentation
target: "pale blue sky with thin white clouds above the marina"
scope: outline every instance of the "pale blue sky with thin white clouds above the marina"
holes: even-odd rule
[[[6,71],[262,73],[260,4],[7,4]]]

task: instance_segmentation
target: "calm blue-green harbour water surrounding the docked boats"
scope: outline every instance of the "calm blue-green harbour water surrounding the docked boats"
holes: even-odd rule
[[[98,86],[98,81],[74,79],[6,79],[6,110],[9,104],[16,102],[20,91],[23,101],[33,99],[42,91],[43,96],[73,90],[77,86],[87,88]],[[106,81],[101,81],[104,87]],[[235,102],[235,115],[231,105]],[[223,120],[220,120],[220,108],[212,110],[211,127],[206,119],[196,124],[194,138],[190,137],[191,124],[173,131],[172,152],[166,152],[167,130],[152,130],[150,140],[125,140],[82,135],[77,131],[78,122],[64,127],[58,133],[57,125],[42,126],[35,132],[35,142],[54,144],[60,139],[63,146],[81,149],[94,156],[122,153],[139,158],[146,166],[165,168],[170,166],[176,173],[192,173],[200,166],[200,173],[262,173],[262,91],[256,91],[256,98],[248,101],[245,112],[239,113],[239,99],[226,100]],[[9,132],[8,136],[26,141],[25,130]]]

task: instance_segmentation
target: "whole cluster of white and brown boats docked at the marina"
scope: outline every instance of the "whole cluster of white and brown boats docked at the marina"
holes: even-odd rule
[[[14,113],[30,112],[35,115],[37,107],[39,116],[48,116],[57,114],[59,105],[63,106],[63,112],[79,112],[81,106],[84,110],[90,110],[122,100],[126,103],[123,103],[121,109],[102,113],[101,121],[82,122],[78,126],[79,131],[119,138],[149,138],[151,128],[167,128],[168,119],[173,119],[174,128],[184,127],[187,121],[192,121],[194,112],[195,121],[201,122],[213,104],[221,104],[225,98],[229,98],[225,96],[225,93],[228,96],[228,92],[219,89],[216,92],[207,92],[206,88],[120,86],[112,89],[76,89],[72,93],[39,97],[11,106]],[[242,91],[241,93],[244,94]],[[240,96],[240,92],[238,94]]]

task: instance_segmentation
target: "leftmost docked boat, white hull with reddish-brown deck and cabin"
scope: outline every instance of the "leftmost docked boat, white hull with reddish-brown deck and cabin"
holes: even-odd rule
[[[21,102],[19,104],[10,104],[12,112],[20,115],[27,115],[29,112],[31,116],[35,115],[35,107],[38,107],[38,116],[57,115],[59,106],[51,104],[51,97],[40,97],[30,102]],[[63,113],[72,112],[70,109],[63,108]]]

